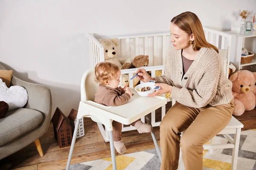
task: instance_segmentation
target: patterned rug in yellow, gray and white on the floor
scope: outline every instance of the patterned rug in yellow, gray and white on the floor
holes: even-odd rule
[[[215,142],[229,143],[223,136],[217,136]],[[213,153],[204,150],[204,170],[231,170],[231,157],[232,149],[218,149]],[[160,160],[156,150],[152,149],[116,156],[116,165],[118,170],[159,170]],[[112,170],[111,158],[72,164],[70,169]],[[237,170],[256,170],[255,129],[241,132]]]

